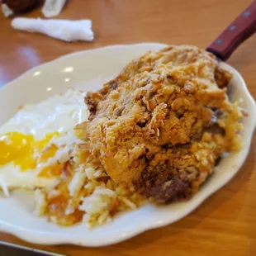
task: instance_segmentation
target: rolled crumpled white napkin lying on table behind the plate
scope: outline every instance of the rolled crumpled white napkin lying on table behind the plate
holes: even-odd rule
[[[94,38],[91,20],[42,20],[18,17],[12,20],[12,27],[21,31],[42,33],[67,42],[92,41]]]

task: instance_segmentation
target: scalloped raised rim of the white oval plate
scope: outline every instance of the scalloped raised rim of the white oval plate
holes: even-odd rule
[[[127,47],[142,47],[142,46],[147,46],[150,47],[152,46],[152,48],[160,48],[160,47],[164,47],[166,45],[164,44],[159,44],[159,43],[141,43],[141,44],[134,44],[134,45],[108,45],[108,46],[104,46],[101,48],[97,48],[97,49],[92,49],[92,50],[82,50],[82,51],[78,51],[69,55],[64,55],[62,57],[59,57],[58,59],[54,59],[50,62],[47,62],[45,64],[40,64],[39,66],[36,66],[35,68],[32,68],[28,71],[26,71],[26,73],[21,74],[21,76],[19,76],[18,78],[14,79],[12,82],[7,83],[7,85],[3,86],[2,88],[0,88],[0,94],[4,93],[5,90],[10,90],[12,89],[12,87],[16,87],[17,83],[19,83],[19,81],[21,79],[26,79],[26,76],[30,76],[31,73],[35,72],[38,69],[44,69],[45,66],[49,66],[51,64],[57,64],[58,62],[61,63],[62,61],[65,61],[66,59],[72,59],[73,56],[76,55],[87,55],[88,52],[93,53],[93,52],[97,52],[97,51],[104,51],[104,50],[113,50],[113,49],[121,49],[123,48],[124,50],[126,50]],[[242,82],[243,85],[243,90],[246,94],[247,100],[249,101],[249,105],[252,108],[252,111],[256,112],[256,107],[255,107],[255,102],[254,102],[254,98],[250,95],[246,84],[244,83],[244,79],[241,77],[241,75],[234,69],[232,68],[230,65],[228,64],[223,64],[225,66],[225,68],[232,70],[233,73],[235,73],[235,76],[237,78],[239,78],[239,80]],[[249,132],[249,140],[252,140],[252,136],[254,134],[254,128],[255,128],[255,124],[256,124],[256,117],[253,116],[253,118],[251,119],[251,127],[250,127],[250,132]],[[135,227],[131,230],[129,230],[129,232],[123,233],[123,234],[116,234],[116,235],[105,235],[105,239],[104,241],[99,241],[98,239],[87,239],[84,240],[84,237],[82,237],[81,235],[71,235],[70,237],[66,237],[65,235],[55,235],[55,233],[53,234],[49,234],[48,232],[44,232],[42,230],[27,230],[21,227],[17,227],[12,225],[12,223],[5,223],[2,220],[0,220],[0,230],[7,232],[9,234],[12,235],[17,235],[17,237],[26,240],[27,242],[31,242],[31,243],[36,243],[36,244],[76,244],[76,245],[83,245],[83,246],[88,246],[88,247],[97,247],[97,246],[105,246],[105,245],[109,245],[109,244],[116,244],[118,242],[121,242],[123,240],[129,239],[135,235],[139,235],[142,232],[145,232],[146,230],[151,230],[154,228],[158,228],[158,227],[162,227],[164,225],[169,225],[171,223],[173,223],[174,221],[180,220],[182,219],[184,216],[187,216],[190,212],[194,211],[197,206],[199,206],[203,201],[206,200],[207,197],[210,197],[213,193],[215,193],[217,190],[220,189],[220,187],[225,186],[226,183],[230,182],[230,179],[233,178],[235,176],[235,174],[239,171],[239,168],[244,164],[244,161],[247,157],[247,155],[249,154],[249,148],[250,146],[248,145],[246,147],[246,149],[243,151],[243,161],[240,161],[239,164],[237,165],[237,170],[235,171],[235,173],[230,174],[230,177],[227,178],[225,181],[222,181],[222,183],[219,183],[218,186],[216,187],[212,187],[211,191],[206,192],[204,194],[204,196],[198,200],[196,203],[194,203],[194,205],[192,207],[188,207],[186,211],[183,211],[182,214],[180,214],[175,220],[169,220],[168,216],[165,218],[165,220],[155,220],[153,223],[148,223],[146,225],[141,225],[140,227]],[[129,214],[129,213],[127,213]],[[115,220],[113,220],[115,221]]]

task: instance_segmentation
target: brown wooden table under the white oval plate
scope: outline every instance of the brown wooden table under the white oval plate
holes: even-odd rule
[[[64,43],[12,30],[0,16],[0,86],[27,69],[77,50],[137,42],[205,48],[250,0],[71,0],[58,18],[92,19],[92,43]],[[26,15],[42,17],[40,10]],[[256,97],[256,35],[230,58]],[[235,178],[183,220],[99,249],[36,246],[69,255],[256,255],[256,136]],[[0,239],[27,244],[12,235]]]

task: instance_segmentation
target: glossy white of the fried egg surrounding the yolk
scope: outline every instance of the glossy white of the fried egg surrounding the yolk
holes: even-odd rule
[[[69,89],[63,95],[55,95],[44,102],[26,105],[17,111],[16,115],[0,127],[0,135],[17,131],[34,135],[35,140],[42,140],[46,134],[59,132],[54,139],[55,145],[65,145],[58,150],[54,159],[63,157],[77,141],[73,128],[78,123],[88,120],[88,108],[84,103],[84,92]],[[50,164],[50,163],[48,163]],[[38,170],[21,171],[12,163],[0,166],[0,187],[7,195],[10,188],[49,187],[57,182],[56,178],[37,176]]]

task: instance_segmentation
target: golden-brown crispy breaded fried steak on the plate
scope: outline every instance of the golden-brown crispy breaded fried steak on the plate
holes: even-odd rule
[[[135,184],[147,197],[187,197],[221,153],[239,149],[241,113],[226,96],[230,78],[195,46],[171,45],[131,61],[100,92],[88,93],[91,154],[116,182]],[[160,200],[154,191],[176,196]]]

